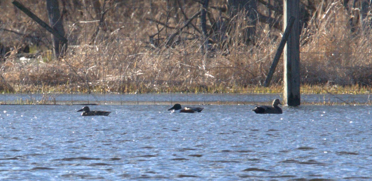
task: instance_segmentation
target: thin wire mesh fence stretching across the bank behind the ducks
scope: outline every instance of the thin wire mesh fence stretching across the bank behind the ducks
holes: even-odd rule
[[[49,24],[46,1],[19,2]],[[0,91],[16,93],[3,94],[0,102],[176,101],[159,93],[190,103],[252,103],[280,97],[282,60],[272,85],[261,84],[283,33],[282,1],[206,2],[61,0],[54,8],[68,44],[55,47],[44,27],[12,2],[0,1]],[[326,94],[304,95],[302,101],[369,103],[371,1],[308,1],[300,8],[301,92]],[[73,96],[81,93],[85,96]],[[123,93],[151,96],[143,95],[147,101],[138,94],[126,99]],[[241,95],[251,93],[271,95]],[[342,93],[364,95],[336,98]]]

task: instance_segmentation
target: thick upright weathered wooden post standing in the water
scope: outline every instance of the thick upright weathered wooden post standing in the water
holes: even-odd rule
[[[284,91],[283,102],[288,106],[300,105],[300,6],[299,0],[283,0],[283,30],[289,17],[295,17],[295,22],[286,46],[284,47]]]

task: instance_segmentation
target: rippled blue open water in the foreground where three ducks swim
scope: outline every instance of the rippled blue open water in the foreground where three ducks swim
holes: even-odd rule
[[[2,105],[0,180],[372,180],[370,106]]]

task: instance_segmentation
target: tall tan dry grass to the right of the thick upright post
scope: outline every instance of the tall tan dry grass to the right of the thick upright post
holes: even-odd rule
[[[371,17],[365,17],[367,26],[355,34],[350,31],[350,17],[341,1],[330,2],[325,12],[319,13],[321,19],[311,22],[302,36],[303,41],[309,41],[301,46],[302,81],[370,86]]]

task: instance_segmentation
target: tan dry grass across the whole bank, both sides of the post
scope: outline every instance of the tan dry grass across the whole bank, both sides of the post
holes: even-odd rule
[[[27,2],[35,4],[31,10],[39,17],[47,17],[44,1]],[[199,6],[193,1],[186,2],[185,13],[191,17]],[[203,55],[200,53],[201,41],[194,35],[198,33],[192,28],[183,30],[179,41],[170,46],[164,46],[164,40],[157,41],[156,48],[150,45],[149,35],[157,33],[163,26],[146,18],[164,22],[164,14],[170,14],[169,28],[155,38],[169,36],[175,32],[171,27],[182,26],[183,15],[167,9],[167,1],[153,1],[151,5],[148,1],[109,4],[112,8],[106,13],[105,26],[95,40],[91,37],[98,23],[84,23],[98,19],[95,11],[90,4],[71,6],[64,15],[70,46],[64,58],[55,59],[47,53],[52,48],[48,43],[51,41],[49,33],[6,3],[2,6],[5,4],[9,8],[3,7],[2,11],[6,13],[2,21],[10,23],[8,29],[26,32],[28,36],[3,34],[11,40],[8,46],[15,50],[1,66],[2,92],[276,93],[282,90],[282,63],[276,69],[273,85],[270,88],[260,86],[279,45],[280,31],[258,23],[256,45],[247,45],[242,34],[250,22],[243,21],[241,15],[231,20],[234,26],[227,36],[227,43],[212,43],[215,51]],[[216,19],[218,11],[211,9],[211,13]],[[47,22],[46,18],[44,20]],[[307,91],[304,93],[322,93],[324,90],[317,86],[328,90],[335,85],[340,92],[355,89],[357,93],[365,93],[371,86],[370,26],[352,34],[347,27],[348,21],[348,12],[340,1],[332,1],[318,9],[310,20],[308,29],[301,36],[302,87]],[[192,23],[199,24],[199,20]],[[35,50],[32,53],[36,53],[36,58],[22,62],[16,52],[25,42],[33,43]],[[225,55],[221,46],[228,46],[230,54]]]

